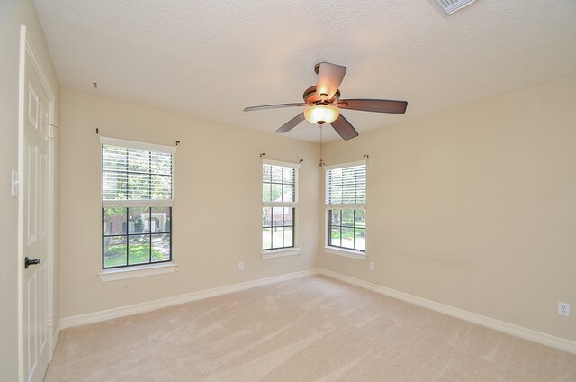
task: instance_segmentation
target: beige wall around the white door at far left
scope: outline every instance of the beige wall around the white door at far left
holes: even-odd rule
[[[44,35],[30,0],[0,2],[0,379],[18,378],[18,287],[17,261],[18,199],[10,196],[10,176],[18,169],[18,78],[20,65],[20,25],[28,28],[31,42],[44,74],[56,96],[58,123],[59,85],[52,67]],[[57,159],[58,160],[58,159]],[[57,250],[58,256],[58,250]],[[58,264],[56,264],[58,266]],[[58,295],[55,296],[58,300]],[[58,306],[58,302],[56,303]],[[58,319],[58,307],[54,312]]]

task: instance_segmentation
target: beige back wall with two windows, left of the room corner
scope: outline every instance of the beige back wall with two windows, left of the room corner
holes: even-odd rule
[[[102,282],[103,136],[174,145],[174,261],[179,272]],[[178,296],[314,267],[318,249],[318,145],[62,89],[62,316]],[[261,258],[259,157],[297,162],[302,254]],[[238,270],[238,261],[245,270]]]

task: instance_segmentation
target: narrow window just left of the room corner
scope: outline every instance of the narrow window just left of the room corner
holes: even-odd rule
[[[293,248],[298,165],[264,160],[262,164],[262,250]]]

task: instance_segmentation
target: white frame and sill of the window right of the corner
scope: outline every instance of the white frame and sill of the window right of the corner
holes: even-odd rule
[[[336,165],[330,165],[324,167],[324,199],[325,199],[325,229],[324,229],[324,251],[331,254],[336,254],[340,256],[344,256],[351,259],[366,259],[366,247],[364,250],[358,250],[355,248],[350,247],[343,247],[338,245],[333,245],[331,243],[331,230],[332,227],[330,221],[330,213],[333,211],[343,211],[343,210],[361,210],[364,211],[365,214],[365,224],[364,227],[358,227],[358,229],[363,229],[365,232],[365,242],[367,241],[367,210],[366,210],[366,199],[365,196],[365,203],[351,203],[351,204],[329,204],[329,171],[338,169],[338,168],[352,168],[358,166],[365,166],[365,193],[367,194],[367,183],[368,183],[368,166],[366,160],[357,160],[354,162],[347,162],[347,163],[340,163]],[[342,223],[340,222],[339,227],[342,227]],[[350,227],[353,229],[353,232],[356,232],[356,220],[354,224]]]

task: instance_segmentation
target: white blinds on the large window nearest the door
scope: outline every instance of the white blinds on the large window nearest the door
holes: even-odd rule
[[[101,140],[103,205],[172,205],[173,148],[110,141]]]

